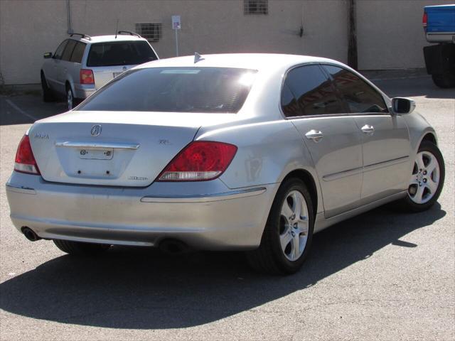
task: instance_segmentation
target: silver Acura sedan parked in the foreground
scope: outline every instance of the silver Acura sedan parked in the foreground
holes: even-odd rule
[[[69,254],[245,250],[258,271],[291,274],[332,224],[434,205],[444,160],[414,107],[325,58],[156,60],[31,126],[6,183],[11,220]]]

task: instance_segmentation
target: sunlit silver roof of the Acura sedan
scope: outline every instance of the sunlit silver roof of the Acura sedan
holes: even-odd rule
[[[313,57],[311,55],[284,55],[277,53],[229,53],[200,55],[195,63],[195,56],[167,58],[154,60],[149,63],[139,65],[136,68],[146,67],[234,67],[251,70],[264,71],[292,67],[304,63],[332,63],[343,65],[336,60],[328,58]],[[273,66],[273,67],[271,67]],[[345,65],[343,65],[345,66]]]

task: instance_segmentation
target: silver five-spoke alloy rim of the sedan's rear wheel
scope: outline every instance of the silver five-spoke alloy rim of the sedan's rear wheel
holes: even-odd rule
[[[296,261],[304,253],[308,224],[308,207],[304,195],[293,190],[283,202],[279,221],[280,245],[289,261]]]

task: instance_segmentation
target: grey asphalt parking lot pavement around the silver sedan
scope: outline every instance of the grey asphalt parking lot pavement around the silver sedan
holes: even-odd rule
[[[380,207],[326,229],[304,268],[282,278],[253,273],[238,253],[114,247],[93,261],[28,242],[3,184],[31,121],[64,105],[1,97],[0,340],[454,340],[454,91],[429,77],[375,82],[415,99],[437,130],[439,203],[414,215]]]

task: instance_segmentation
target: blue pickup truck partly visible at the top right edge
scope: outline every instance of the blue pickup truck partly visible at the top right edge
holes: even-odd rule
[[[455,4],[424,7],[423,26],[427,72],[438,87],[455,87]]]

